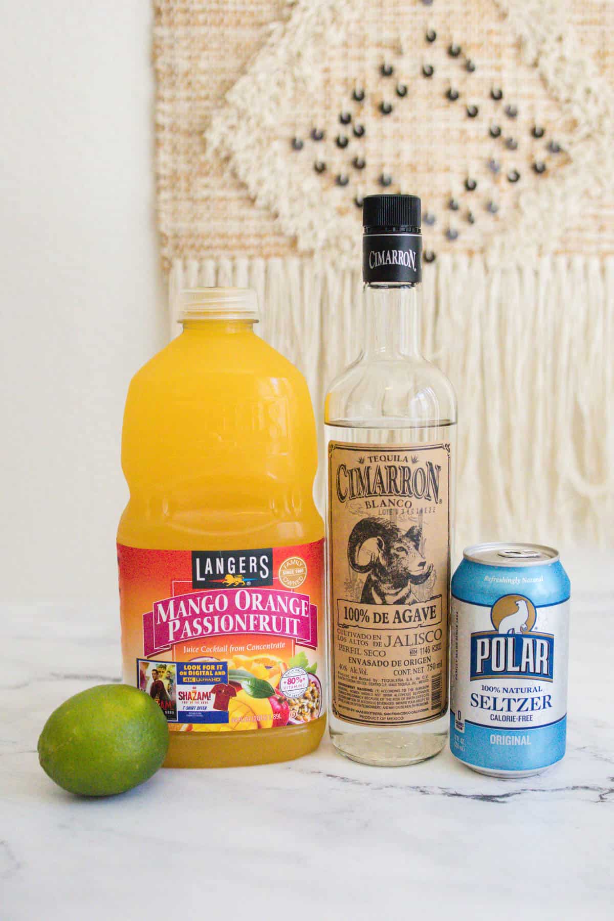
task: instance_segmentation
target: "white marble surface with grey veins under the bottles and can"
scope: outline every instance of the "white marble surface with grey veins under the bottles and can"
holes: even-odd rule
[[[497,780],[449,752],[408,768],[300,761],[160,771],[76,799],[36,742],[70,694],[115,680],[116,616],[12,605],[2,659],[0,918],[133,921],[614,916],[611,555],[570,554],[568,752]]]

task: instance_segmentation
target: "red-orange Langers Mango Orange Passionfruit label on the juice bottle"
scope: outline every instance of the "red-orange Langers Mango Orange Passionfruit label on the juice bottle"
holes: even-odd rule
[[[323,541],[254,550],[118,544],[123,680],[169,729],[280,729],[317,719]]]

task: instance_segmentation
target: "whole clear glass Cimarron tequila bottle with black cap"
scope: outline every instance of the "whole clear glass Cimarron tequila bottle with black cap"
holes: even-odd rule
[[[364,224],[364,346],[325,405],[329,726],[393,766],[446,742],[457,402],[420,351],[420,199],[369,196]]]

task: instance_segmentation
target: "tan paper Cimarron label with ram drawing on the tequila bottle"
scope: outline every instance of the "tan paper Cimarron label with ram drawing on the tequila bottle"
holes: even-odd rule
[[[447,708],[450,445],[329,444],[332,712],[401,726]]]

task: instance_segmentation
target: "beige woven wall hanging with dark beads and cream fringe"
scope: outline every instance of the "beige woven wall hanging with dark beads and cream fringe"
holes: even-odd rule
[[[459,544],[614,542],[613,29],[609,0],[156,2],[172,334],[181,287],[255,287],[321,421],[362,197],[421,195]]]

